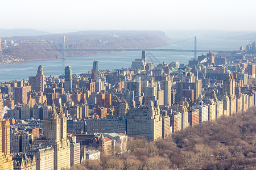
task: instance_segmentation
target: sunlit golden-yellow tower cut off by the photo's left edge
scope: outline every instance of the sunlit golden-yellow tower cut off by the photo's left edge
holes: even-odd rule
[[[13,169],[10,148],[10,122],[0,120],[0,169]]]

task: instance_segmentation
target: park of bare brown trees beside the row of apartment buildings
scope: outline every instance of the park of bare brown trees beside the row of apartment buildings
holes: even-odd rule
[[[86,160],[71,169],[255,169],[256,108],[148,142],[129,137],[122,155]]]

